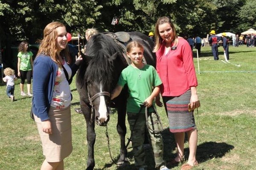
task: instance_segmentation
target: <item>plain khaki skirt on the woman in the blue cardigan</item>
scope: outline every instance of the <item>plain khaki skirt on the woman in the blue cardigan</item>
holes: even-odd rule
[[[70,106],[64,109],[50,107],[48,116],[52,123],[50,135],[43,132],[41,119],[34,114],[46,161],[59,162],[69,156],[73,149]]]

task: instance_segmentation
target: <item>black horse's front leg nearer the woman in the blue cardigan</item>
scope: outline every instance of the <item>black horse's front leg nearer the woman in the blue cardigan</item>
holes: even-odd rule
[[[87,158],[86,170],[93,170],[95,166],[95,161],[94,161],[94,144],[96,140],[96,133],[94,130],[95,121],[93,119],[92,123],[90,124],[91,109],[85,103],[81,104],[81,110],[84,114],[84,118],[86,121],[86,129],[87,129],[86,136],[87,136],[88,158]]]

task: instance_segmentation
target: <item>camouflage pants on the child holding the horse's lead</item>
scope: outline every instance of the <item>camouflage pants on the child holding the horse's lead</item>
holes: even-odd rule
[[[132,148],[134,153],[134,161],[136,167],[147,167],[145,165],[145,151],[143,148],[146,119],[145,113],[127,113],[128,123],[132,132]],[[138,118],[137,118],[138,117]],[[134,122],[137,122],[134,127]],[[151,139],[151,146],[154,153],[154,161],[156,168],[165,165],[163,160],[163,138],[160,132],[154,132],[153,130],[159,130],[159,124],[156,113],[148,113],[148,134]]]

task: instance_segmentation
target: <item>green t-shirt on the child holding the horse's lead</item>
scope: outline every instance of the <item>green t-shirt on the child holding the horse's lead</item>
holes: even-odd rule
[[[151,95],[153,87],[161,85],[162,82],[153,66],[144,65],[142,69],[138,69],[129,65],[122,71],[117,84],[122,87],[128,85],[127,112],[138,113],[140,105]],[[152,105],[155,105],[155,101]],[[148,111],[154,110],[150,108]],[[142,109],[141,113],[145,113],[145,110]]]

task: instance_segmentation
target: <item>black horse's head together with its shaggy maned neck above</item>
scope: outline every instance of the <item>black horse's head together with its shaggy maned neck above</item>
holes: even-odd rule
[[[117,57],[122,56],[119,51],[111,37],[97,34],[87,43],[86,56],[82,56],[85,62],[80,66],[79,84],[86,88],[95,121],[101,126],[109,121],[110,93],[122,71],[119,67],[124,67],[122,58]]]

